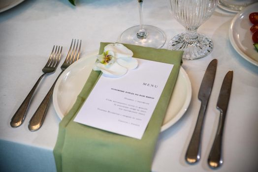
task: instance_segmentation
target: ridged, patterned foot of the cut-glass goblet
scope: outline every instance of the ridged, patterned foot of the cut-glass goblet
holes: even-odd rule
[[[180,33],[173,37],[169,42],[169,50],[183,50],[184,59],[197,59],[207,56],[213,49],[210,38],[197,33],[195,39],[189,39],[185,33]]]

